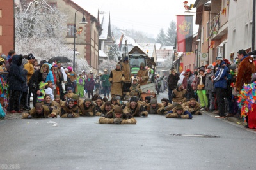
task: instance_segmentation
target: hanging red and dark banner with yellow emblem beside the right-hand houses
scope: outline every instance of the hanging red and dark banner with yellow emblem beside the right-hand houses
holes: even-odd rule
[[[177,15],[177,51],[191,52],[193,43],[193,16]]]

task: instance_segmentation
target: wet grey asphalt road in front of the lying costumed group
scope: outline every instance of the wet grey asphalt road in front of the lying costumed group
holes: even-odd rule
[[[192,120],[149,115],[136,118],[136,125],[98,124],[98,120],[0,120],[0,169],[6,164],[20,169],[256,168],[255,131],[206,113]]]

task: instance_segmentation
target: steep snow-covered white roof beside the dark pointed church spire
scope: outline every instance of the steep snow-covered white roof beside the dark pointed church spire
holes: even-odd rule
[[[109,18],[109,12],[99,11],[99,22],[100,26],[102,27],[102,32],[99,39],[108,38]]]

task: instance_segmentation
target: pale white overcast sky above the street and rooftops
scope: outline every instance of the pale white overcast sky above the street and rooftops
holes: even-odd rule
[[[141,30],[148,36],[156,38],[160,29],[168,29],[176,15],[195,15],[196,8],[191,13],[185,13],[184,0],[72,0],[97,18],[97,11],[110,11],[111,25],[120,29]],[[195,0],[188,1],[195,3]],[[193,34],[198,31],[193,17]]]

